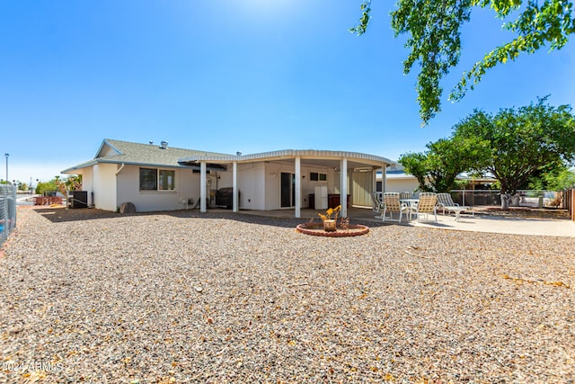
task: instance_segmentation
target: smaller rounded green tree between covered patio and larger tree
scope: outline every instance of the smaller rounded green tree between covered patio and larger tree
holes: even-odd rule
[[[426,147],[425,153],[399,159],[405,172],[417,178],[421,191],[451,191],[458,174],[478,169],[489,155],[489,142],[477,138],[441,138]]]

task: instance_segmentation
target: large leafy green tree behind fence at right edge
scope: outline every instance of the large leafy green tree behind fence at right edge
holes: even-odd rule
[[[555,108],[545,101],[518,110],[501,109],[496,115],[476,110],[454,127],[456,137],[489,141],[485,169],[499,180],[502,196],[516,193],[538,170],[575,158],[571,107]],[[502,198],[502,208],[506,203]]]

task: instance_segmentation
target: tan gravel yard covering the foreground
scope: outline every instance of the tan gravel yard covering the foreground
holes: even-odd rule
[[[0,382],[575,382],[572,237],[18,215]]]

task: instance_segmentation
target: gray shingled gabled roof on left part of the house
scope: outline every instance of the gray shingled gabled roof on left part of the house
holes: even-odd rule
[[[226,154],[177,147],[163,149],[157,144],[140,144],[105,138],[96,156],[89,161],[70,167],[63,174],[97,163],[182,167],[178,159],[189,156],[222,156]]]

